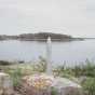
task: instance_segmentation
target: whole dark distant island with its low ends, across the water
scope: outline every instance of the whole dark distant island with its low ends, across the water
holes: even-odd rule
[[[39,33],[22,33],[18,36],[0,36],[0,40],[21,40],[21,41],[46,41],[51,37],[52,41],[76,41],[83,40],[82,38],[72,38],[68,35],[39,32]]]

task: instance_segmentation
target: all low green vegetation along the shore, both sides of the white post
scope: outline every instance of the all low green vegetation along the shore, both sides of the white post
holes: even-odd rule
[[[21,84],[21,80],[24,76],[32,74],[36,72],[45,72],[46,62],[40,58],[39,63],[32,64],[9,64],[6,62],[0,62],[0,70],[9,73],[13,80],[14,87]],[[80,66],[74,66],[72,68],[59,66],[53,69],[54,76],[59,76],[79,82],[84,90],[84,95],[95,95],[95,64],[86,60]],[[53,89],[53,94],[55,90]]]

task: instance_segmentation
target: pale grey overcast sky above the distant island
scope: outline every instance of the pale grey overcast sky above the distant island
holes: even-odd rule
[[[95,0],[0,0],[0,35],[95,37]]]

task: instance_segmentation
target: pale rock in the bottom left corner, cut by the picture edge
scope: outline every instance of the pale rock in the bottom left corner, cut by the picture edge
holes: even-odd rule
[[[13,95],[13,83],[9,74],[0,72],[0,95]]]

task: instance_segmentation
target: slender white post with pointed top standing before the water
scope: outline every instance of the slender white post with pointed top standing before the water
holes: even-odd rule
[[[52,41],[51,37],[46,41],[46,73],[52,74]]]

